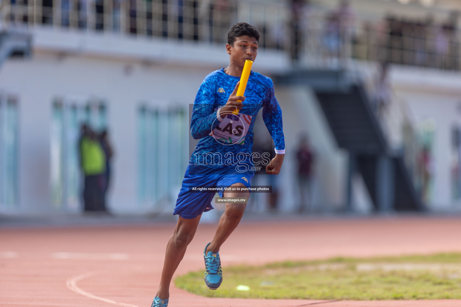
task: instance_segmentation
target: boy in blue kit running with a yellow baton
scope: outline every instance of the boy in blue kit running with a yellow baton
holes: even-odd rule
[[[236,96],[243,65],[246,59],[254,61],[256,58],[259,38],[260,34],[254,26],[248,23],[234,24],[229,30],[226,44],[229,66],[207,75],[195,97],[190,129],[194,139],[200,141],[189,160],[177,197],[173,214],[179,214],[179,219],[166,245],[160,287],[151,307],[168,305],[173,273],[194,237],[201,214],[213,209],[211,201],[216,192],[195,192],[192,188],[251,186],[254,176],[252,130],[261,108],[276,153],[266,166],[266,173],[278,174],[282,167],[285,154],[282,111],[274,95],[272,80],[252,71],[245,97]],[[235,114],[236,110],[239,110],[238,114]],[[247,191],[218,191],[220,197],[249,196]],[[223,280],[219,248],[240,222],[245,208],[246,203],[226,203],[213,241],[205,247],[205,284],[209,289],[217,289]]]

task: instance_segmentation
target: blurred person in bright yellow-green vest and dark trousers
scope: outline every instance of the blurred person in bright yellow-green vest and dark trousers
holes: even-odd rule
[[[96,133],[87,125],[82,125],[80,138],[80,167],[85,177],[83,202],[85,212],[106,212],[104,203],[104,173],[106,172],[106,155]]]

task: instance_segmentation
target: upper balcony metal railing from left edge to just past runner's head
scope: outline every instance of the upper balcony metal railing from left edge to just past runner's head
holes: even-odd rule
[[[266,32],[285,20],[284,4],[234,0],[5,0],[0,18],[11,25],[112,32],[223,43],[238,20]],[[264,33],[263,33],[264,34]],[[271,45],[262,38],[263,45]]]

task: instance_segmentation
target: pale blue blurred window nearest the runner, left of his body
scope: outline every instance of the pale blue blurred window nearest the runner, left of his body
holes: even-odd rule
[[[172,202],[189,160],[185,112],[142,105],[137,117],[139,203],[153,207],[159,201]]]

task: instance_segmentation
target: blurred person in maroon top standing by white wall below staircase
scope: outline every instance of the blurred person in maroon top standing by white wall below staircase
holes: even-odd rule
[[[299,188],[299,207],[298,211],[309,210],[312,203],[312,168],[313,152],[310,148],[307,136],[302,135],[298,149],[296,151],[298,162],[298,188]]]

